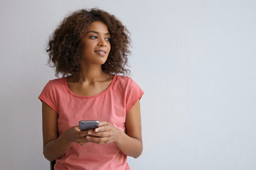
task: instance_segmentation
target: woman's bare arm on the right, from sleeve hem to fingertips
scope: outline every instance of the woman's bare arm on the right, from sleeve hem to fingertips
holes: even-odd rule
[[[110,123],[100,122],[100,128],[90,131],[87,140],[97,144],[114,142],[124,154],[137,158],[142,154],[143,149],[139,100],[127,113],[125,126],[127,133]]]

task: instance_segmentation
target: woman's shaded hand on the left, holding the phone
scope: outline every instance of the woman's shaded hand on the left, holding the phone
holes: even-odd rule
[[[69,128],[66,132],[68,135],[68,139],[71,142],[77,142],[79,145],[85,145],[87,144],[87,142],[89,142],[86,139],[86,136],[88,135],[88,132],[90,134],[90,131],[92,130],[81,131],[79,125],[77,125]]]

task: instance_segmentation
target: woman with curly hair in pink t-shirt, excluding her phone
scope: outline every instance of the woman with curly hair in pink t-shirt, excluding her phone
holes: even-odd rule
[[[55,169],[129,169],[142,154],[139,99],[144,92],[126,74],[128,30],[100,9],[71,13],[48,43],[60,79],[48,82],[43,107],[43,154]],[[80,120],[100,128],[81,131]]]

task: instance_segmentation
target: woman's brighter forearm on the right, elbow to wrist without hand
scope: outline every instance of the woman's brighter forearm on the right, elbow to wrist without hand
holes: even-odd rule
[[[129,137],[121,130],[120,135],[114,144],[127,156],[137,158],[142,154],[142,141],[134,137]]]

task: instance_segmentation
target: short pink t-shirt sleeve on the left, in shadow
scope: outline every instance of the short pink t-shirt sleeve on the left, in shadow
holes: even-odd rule
[[[52,108],[53,111],[58,113],[56,103],[55,103],[55,92],[54,92],[53,84],[51,83],[51,81],[49,81],[48,84],[46,84],[46,86],[43,88],[43,91],[41,92],[38,98],[41,101],[44,101],[46,104],[48,104],[48,106],[50,106],[50,108]]]

